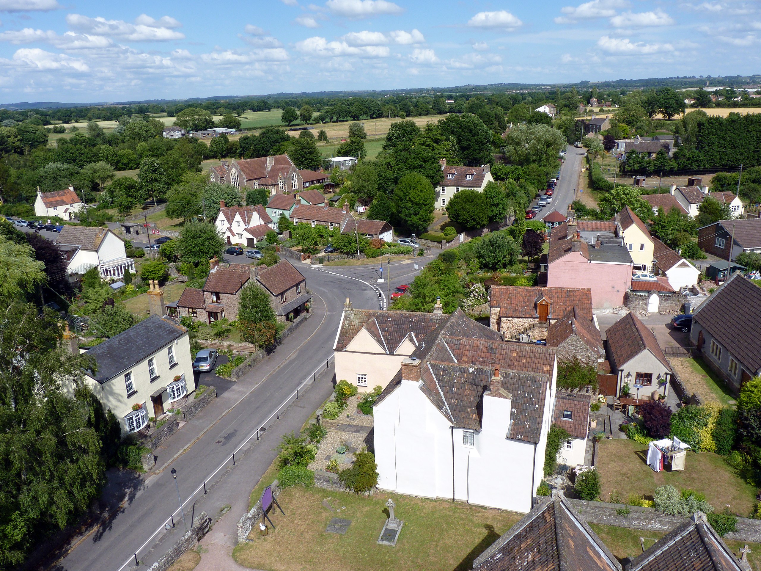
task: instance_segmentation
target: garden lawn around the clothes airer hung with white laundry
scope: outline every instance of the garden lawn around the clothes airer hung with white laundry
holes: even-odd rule
[[[597,469],[602,480],[603,499],[618,493],[626,501],[629,493],[652,499],[655,488],[669,484],[677,490],[690,489],[705,494],[717,512],[747,517],[756,503],[756,489],[734,473],[724,458],[710,452],[687,452],[683,472],[657,474],[645,464],[648,447],[628,439],[602,440]]]

